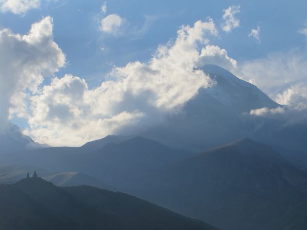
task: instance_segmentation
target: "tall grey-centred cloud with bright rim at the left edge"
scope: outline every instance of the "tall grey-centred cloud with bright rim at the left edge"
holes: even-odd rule
[[[53,22],[45,17],[26,35],[0,30],[0,128],[8,122],[9,109],[25,116],[27,97],[35,93],[42,76],[52,75],[65,63],[65,56],[53,41]]]

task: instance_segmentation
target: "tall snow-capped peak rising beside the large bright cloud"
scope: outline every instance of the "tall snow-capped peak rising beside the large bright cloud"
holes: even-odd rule
[[[180,113],[140,133],[141,136],[170,146],[202,151],[251,136],[257,124],[249,116],[250,110],[279,106],[255,85],[224,68],[205,65],[201,69],[215,84],[200,89]]]

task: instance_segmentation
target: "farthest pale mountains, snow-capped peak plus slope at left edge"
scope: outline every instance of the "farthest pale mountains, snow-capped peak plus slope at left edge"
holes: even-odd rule
[[[212,87],[201,89],[178,114],[172,114],[165,122],[134,133],[134,136],[193,152],[248,137],[272,146],[293,164],[307,169],[307,116],[291,122],[287,122],[281,114],[275,114],[274,118],[252,116],[252,109],[287,106],[272,101],[255,85],[237,78],[224,68],[205,65],[201,70],[215,81]],[[12,124],[7,129],[6,134],[0,134],[2,154],[44,147],[21,134]],[[109,136],[83,147],[85,151],[99,150],[104,142],[119,143],[131,137],[116,136],[117,140],[112,140]]]

